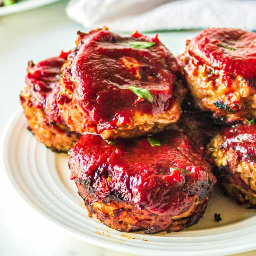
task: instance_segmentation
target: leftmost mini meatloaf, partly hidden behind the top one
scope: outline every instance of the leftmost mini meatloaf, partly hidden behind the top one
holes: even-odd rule
[[[56,152],[67,152],[79,139],[65,124],[57,105],[61,66],[67,54],[28,64],[26,87],[20,94],[27,117],[28,129],[46,147]]]

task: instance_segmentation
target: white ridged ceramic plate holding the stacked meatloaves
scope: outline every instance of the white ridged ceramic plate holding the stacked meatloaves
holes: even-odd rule
[[[140,255],[227,255],[256,248],[255,210],[238,206],[215,189],[199,223],[179,233],[121,233],[89,218],[74,181],[67,155],[55,154],[26,129],[21,108],[2,138],[7,175],[18,194],[52,223],[86,242]],[[222,221],[214,222],[214,213]]]

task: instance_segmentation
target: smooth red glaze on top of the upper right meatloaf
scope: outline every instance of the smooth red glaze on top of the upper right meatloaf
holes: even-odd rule
[[[189,54],[215,69],[256,78],[256,33],[210,28],[188,41]]]

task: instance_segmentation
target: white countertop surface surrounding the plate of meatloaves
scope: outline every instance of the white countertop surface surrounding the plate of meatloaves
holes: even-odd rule
[[[67,0],[34,10],[0,17],[0,134],[10,116],[19,106],[19,92],[24,86],[28,60],[35,62],[56,56],[60,50],[74,46],[77,30],[84,30],[70,21],[64,12]],[[107,25],[107,24],[106,24]],[[185,39],[193,32],[162,33],[160,39],[177,41],[174,54],[184,50]],[[19,127],[17,127],[19,129]],[[120,252],[96,247],[72,238],[37,212],[31,210],[16,195],[3,167],[0,179],[0,255],[61,255],[115,256]],[[256,251],[236,254],[253,256]],[[128,256],[131,254],[124,254]]]

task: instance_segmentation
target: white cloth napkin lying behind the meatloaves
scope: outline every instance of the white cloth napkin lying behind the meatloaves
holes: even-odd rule
[[[71,0],[67,15],[86,28],[120,32],[237,27],[256,30],[255,0]]]

